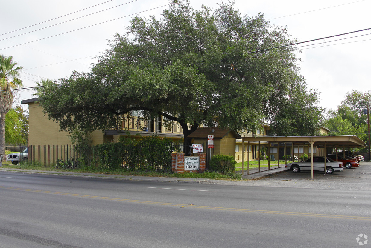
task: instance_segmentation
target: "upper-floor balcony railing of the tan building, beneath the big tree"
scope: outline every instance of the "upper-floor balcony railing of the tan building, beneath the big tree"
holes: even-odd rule
[[[116,126],[111,130],[142,131],[152,133],[183,134],[181,125],[176,121],[147,120],[141,117],[118,117]]]

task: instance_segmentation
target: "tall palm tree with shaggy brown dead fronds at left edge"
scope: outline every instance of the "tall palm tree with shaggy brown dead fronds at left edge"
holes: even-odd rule
[[[4,56],[0,54],[0,155],[5,159],[5,115],[12,108],[13,92],[12,90],[22,86],[20,70],[23,68],[17,66],[13,61],[13,56]]]

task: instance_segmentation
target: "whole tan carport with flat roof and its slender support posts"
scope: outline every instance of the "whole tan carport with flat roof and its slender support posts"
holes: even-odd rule
[[[324,148],[325,156],[327,154],[327,148],[355,148],[355,147],[366,147],[366,143],[363,140],[358,138],[357,136],[347,135],[347,136],[289,136],[289,137],[277,137],[277,136],[269,136],[269,137],[243,137],[242,138],[242,147],[244,147],[244,142],[247,142],[247,147],[249,147],[250,142],[254,144],[258,144],[259,150],[261,144],[268,145],[268,170],[269,170],[269,147],[272,143],[277,143],[278,148],[280,144],[285,145],[285,147],[289,144],[294,148],[294,146],[299,145],[307,145],[311,147],[311,156],[313,157],[313,146],[316,145],[317,148]],[[294,149],[292,149],[293,151]],[[345,150],[345,149],[344,149]],[[243,149],[242,149],[243,152]],[[286,155],[286,149],[285,149]],[[292,154],[292,160],[293,156]],[[258,154],[258,163],[260,168],[260,153]],[[286,160],[287,164],[287,160]],[[247,175],[249,175],[249,153],[247,153]],[[278,160],[278,167],[279,167],[279,160]],[[326,160],[325,160],[325,168],[326,168]],[[326,174],[326,170],[324,170]],[[242,154],[242,175],[243,175],[243,154]],[[311,162],[311,177],[313,179],[313,160]]]

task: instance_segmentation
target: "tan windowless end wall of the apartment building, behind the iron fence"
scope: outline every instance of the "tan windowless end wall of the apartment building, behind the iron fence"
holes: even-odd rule
[[[59,131],[59,124],[48,120],[39,103],[29,103],[29,144],[30,145],[70,145],[69,133]],[[102,131],[91,134],[92,145],[103,143]]]

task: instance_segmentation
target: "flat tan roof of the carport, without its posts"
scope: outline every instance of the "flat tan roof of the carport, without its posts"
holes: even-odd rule
[[[363,140],[353,135],[346,136],[269,136],[243,137],[243,142],[292,143],[293,145],[313,145],[317,147],[366,147]]]

